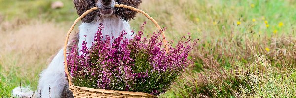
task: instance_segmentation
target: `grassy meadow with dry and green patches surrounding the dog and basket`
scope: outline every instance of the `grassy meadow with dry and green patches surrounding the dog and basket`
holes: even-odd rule
[[[73,0],[0,0],[0,97],[37,89],[78,17]],[[296,98],[296,0],[142,0],[169,40],[199,39],[194,62],[160,98]],[[157,29],[143,15],[130,21]],[[77,26],[75,27],[77,30]]]

